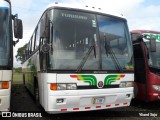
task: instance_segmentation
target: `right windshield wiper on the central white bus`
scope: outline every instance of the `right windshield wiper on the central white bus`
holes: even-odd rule
[[[115,53],[113,52],[112,48],[110,47],[110,45],[106,41],[106,36],[104,36],[104,40],[105,40],[106,55],[108,56],[108,53],[110,54],[111,59],[113,60],[113,63],[115,65],[116,69],[119,70],[120,72],[122,72],[123,70],[120,66],[120,63],[117,60],[117,57],[116,57]]]

